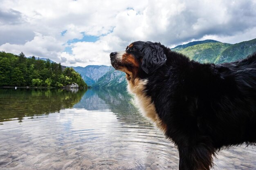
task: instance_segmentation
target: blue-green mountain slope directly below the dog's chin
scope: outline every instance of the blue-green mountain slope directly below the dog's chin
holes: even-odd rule
[[[115,68],[110,67],[109,71],[103,75],[98,81],[93,84],[93,87],[106,87],[106,88],[126,88],[127,82],[125,73],[116,71]]]

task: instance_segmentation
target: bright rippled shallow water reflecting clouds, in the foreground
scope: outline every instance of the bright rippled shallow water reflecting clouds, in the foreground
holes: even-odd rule
[[[63,109],[47,117],[25,117],[0,126],[0,168],[4,170],[169,170],[179,155],[147,121],[138,123],[110,110]],[[256,169],[255,148],[220,152],[215,170]]]

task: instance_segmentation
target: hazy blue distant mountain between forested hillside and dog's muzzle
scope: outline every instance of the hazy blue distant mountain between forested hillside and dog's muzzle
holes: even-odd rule
[[[75,71],[81,74],[83,80],[91,86],[97,80],[106,74],[111,66],[96,66],[96,65],[89,65],[86,67],[73,67]]]

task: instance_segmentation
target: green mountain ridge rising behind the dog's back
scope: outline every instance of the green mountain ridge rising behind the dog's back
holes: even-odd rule
[[[204,40],[179,45],[171,49],[201,63],[233,62],[241,60],[256,51],[256,39],[237,44],[222,43],[215,40]]]

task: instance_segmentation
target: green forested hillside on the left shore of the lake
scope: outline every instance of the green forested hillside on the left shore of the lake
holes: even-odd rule
[[[63,87],[72,83],[87,87],[73,68],[62,69],[60,63],[26,58],[23,53],[0,52],[0,86]]]

